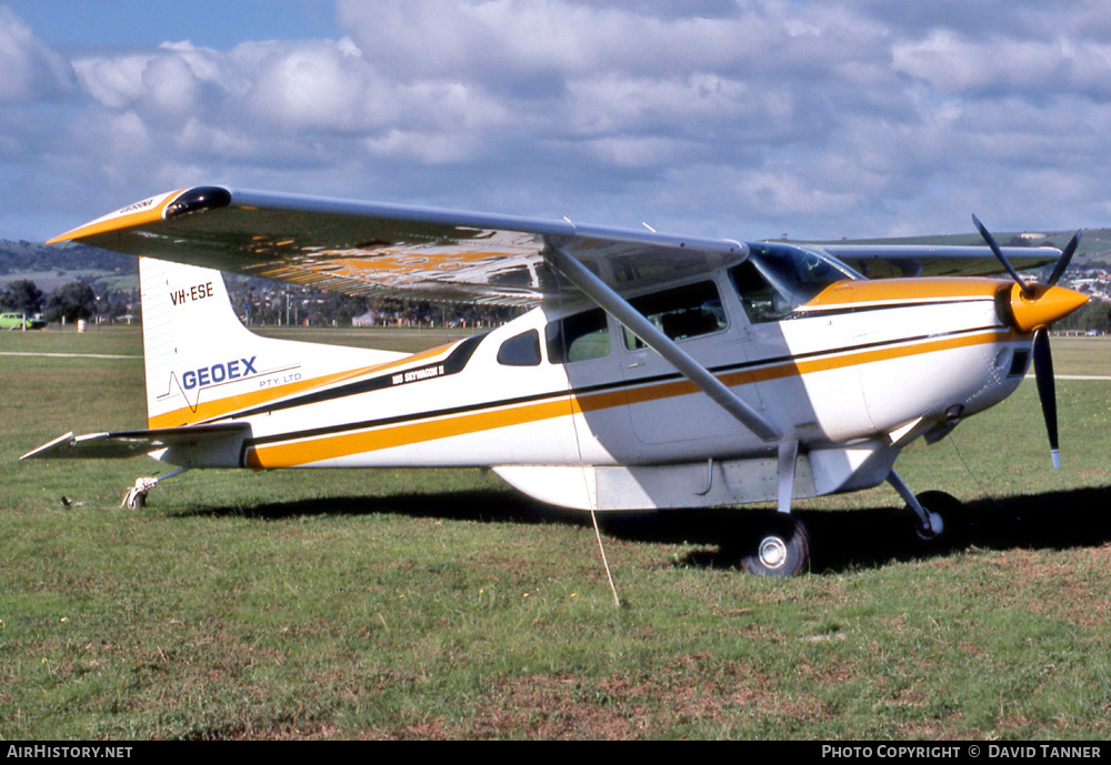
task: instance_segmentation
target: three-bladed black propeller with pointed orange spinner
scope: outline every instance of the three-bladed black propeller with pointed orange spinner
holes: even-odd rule
[[[1022,334],[1033,332],[1034,379],[1038,383],[1038,399],[1041,401],[1042,416],[1045,419],[1045,431],[1049,434],[1053,467],[1059,470],[1061,467],[1061,452],[1057,433],[1057,386],[1053,381],[1053,358],[1049,349],[1049,325],[1088,302],[1087,295],[1057,285],[1064,270],[1069,268],[1072,255],[1077,252],[1077,245],[1080,244],[1080,231],[1073,234],[1072,240],[1061,252],[1061,256],[1053,265],[1049,282],[1028,284],[1022,281],[1018,271],[1007,260],[995,242],[995,238],[984,228],[983,223],[975,215],[972,215],[972,222],[979,229],[980,235],[983,236],[995,258],[1014,280],[1010,295],[1011,325]]]

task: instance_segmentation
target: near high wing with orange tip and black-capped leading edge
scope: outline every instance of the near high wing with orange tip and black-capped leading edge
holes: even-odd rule
[[[371,202],[197,187],[51,240],[363,296],[532,305],[561,294],[558,246],[614,289],[743,260],[722,239]]]

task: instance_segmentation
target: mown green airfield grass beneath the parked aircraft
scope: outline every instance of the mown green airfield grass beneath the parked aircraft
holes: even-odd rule
[[[1059,472],[1031,382],[902,455],[968,503],[957,544],[917,543],[884,486],[800,503],[814,564],[788,581],[722,552],[754,511],[602,516],[617,607],[588,515],[479,471],[193,471],[121,509],[157,463],[18,457],[144,425],[138,331],[0,352],[131,356],[0,356],[0,737],[1111,732],[1111,382],[1058,383]],[[1054,352],[1111,373],[1111,342]]]

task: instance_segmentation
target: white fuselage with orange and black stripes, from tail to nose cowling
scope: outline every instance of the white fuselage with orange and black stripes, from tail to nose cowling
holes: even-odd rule
[[[1014,391],[1030,335],[1001,314],[1007,290],[987,279],[869,281],[768,245],[629,301],[802,453],[882,456],[869,457],[878,462],[865,476],[823,484],[844,491],[882,480],[913,439],[940,437]],[[332,349],[332,363],[342,353]],[[276,368],[263,354],[252,366]],[[204,422],[250,423],[241,466],[712,470],[774,450],[582,303],[546,304],[488,334],[346,374],[309,358],[284,368],[296,370],[286,381],[244,381],[271,386],[252,405],[197,407]]]

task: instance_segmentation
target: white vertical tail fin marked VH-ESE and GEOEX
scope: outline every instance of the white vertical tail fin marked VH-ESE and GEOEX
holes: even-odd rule
[[[407,355],[261,338],[219,271],[142,258],[139,278],[150,427],[226,419]]]

